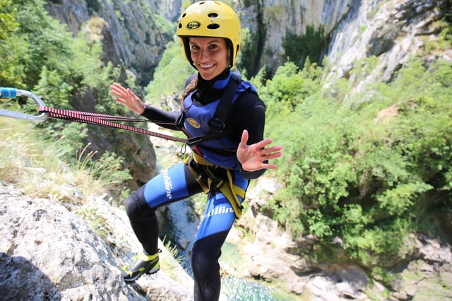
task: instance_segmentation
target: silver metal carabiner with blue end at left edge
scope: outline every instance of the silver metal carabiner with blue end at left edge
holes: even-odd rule
[[[37,95],[28,92],[26,90],[19,90],[19,89],[15,89],[15,88],[3,88],[0,87],[0,98],[16,98],[17,96],[27,96],[29,98],[31,98],[32,100],[35,100],[35,102],[37,103],[38,106],[43,106],[44,102],[37,97]],[[12,112],[12,111],[7,111],[7,110],[1,110],[0,109],[0,116],[4,116],[4,117],[10,117],[10,118],[16,118],[16,119],[22,119],[22,120],[27,120],[30,122],[44,122],[49,115],[47,113],[41,113],[38,116],[35,115],[29,115],[29,114],[23,114],[20,112]]]

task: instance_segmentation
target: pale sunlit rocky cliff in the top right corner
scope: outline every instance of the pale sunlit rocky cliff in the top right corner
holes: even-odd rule
[[[443,0],[352,1],[328,47],[331,76],[350,76],[362,59],[377,57],[374,70],[357,86],[363,90],[370,82],[390,81],[415,54],[424,57],[426,64],[436,59],[451,61],[452,49],[424,51],[429,42],[438,40],[441,29],[435,22],[451,9],[451,1]]]

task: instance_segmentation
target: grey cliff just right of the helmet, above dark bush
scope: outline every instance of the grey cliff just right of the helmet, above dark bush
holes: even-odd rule
[[[345,16],[352,0],[263,0],[238,1],[234,6],[239,12],[242,27],[249,28],[256,37],[258,59],[251,75],[264,65],[275,71],[287,61],[283,49],[286,33],[304,35],[307,26],[323,28],[325,35],[333,34]],[[327,49],[324,49],[326,52]]]

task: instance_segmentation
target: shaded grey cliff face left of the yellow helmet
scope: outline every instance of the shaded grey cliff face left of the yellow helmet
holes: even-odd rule
[[[61,0],[47,1],[51,16],[67,24],[77,35],[90,18],[105,20],[104,51],[106,61],[124,66],[147,83],[153,75],[165,45],[173,33],[156,30],[157,18],[168,20],[179,16],[181,1],[108,1]],[[111,40],[105,37],[111,37]]]

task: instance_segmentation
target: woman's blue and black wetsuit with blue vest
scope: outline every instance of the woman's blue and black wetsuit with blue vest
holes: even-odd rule
[[[182,130],[188,136],[206,134],[208,131],[206,122],[215,112],[218,101],[228,81],[231,80],[230,76],[229,69],[212,81],[204,81],[198,76],[198,88],[186,97],[182,112],[165,112],[147,106],[142,115],[156,124],[161,123],[163,127]],[[242,81],[225,119],[224,132],[227,136],[203,142],[192,148],[196,157],[202,158],[201,162],[195,160],[190,164],[179,163],[163,170],[126,199],[126,213],[131,220],[133,231],[145,252],[155,254],[158,251],[159,235],[155,210],[203,191],[208,194],[206,210],[191,250],[195,300],[218,300],[220,295],[218,259],[222,244],[236,218],[230,201],[215,183],[206,191],[200,179],[203,179],[204,183],[208,182],[208,178],[225,182],[232,180],[235,187],[246,191],[249,180],[261,176],[265,170],[255,172],[242,170],[234,150],[237,149],[244,129],[249,132],[248,144],[262,141],[264,124],[265,106],[258,98],[256,88],[251,83]],[[242,202],[244,195],[237,196],[237,199]]]

